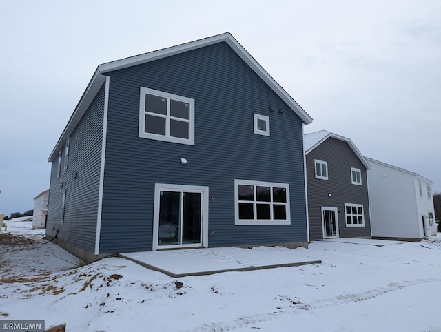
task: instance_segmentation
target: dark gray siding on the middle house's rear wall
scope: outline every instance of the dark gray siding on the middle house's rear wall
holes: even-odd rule
[[[327,162],[328,180],[315,178],[315,159]],[[327,138],[307,154],[306,163],[310,239],[323,238],[321,207],[337,207],[340,238],[371,236],[366,168],[351,147],[344,141]],[[362,185],[351,183],[351,167],[361,169]],[[346,226],[345,203],[363,205],[365,227]]]

